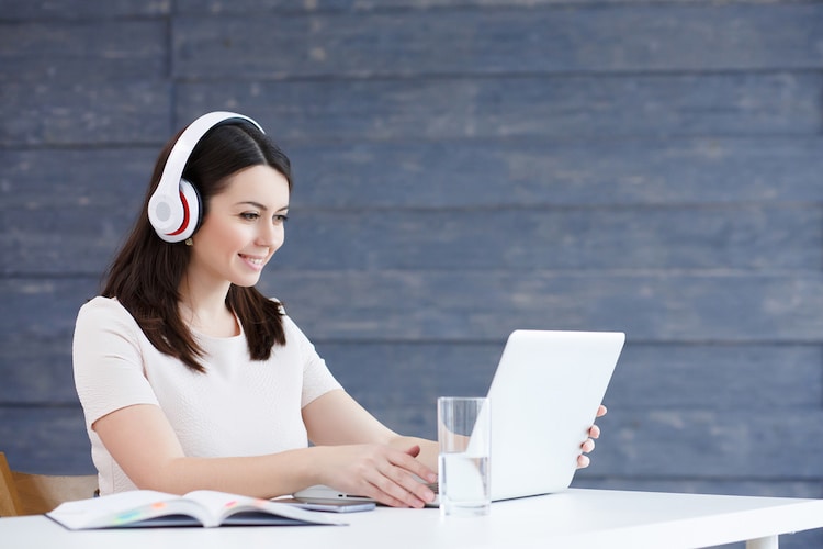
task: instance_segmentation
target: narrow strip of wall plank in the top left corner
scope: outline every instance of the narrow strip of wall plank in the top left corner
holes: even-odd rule
[[[156,16],[171,13],[170,0],[61,0],[60,2],[21,2],[0,0],[0,21],[90,20]]]

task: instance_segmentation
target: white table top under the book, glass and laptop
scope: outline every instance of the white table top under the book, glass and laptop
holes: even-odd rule
[[[349,526],[156,528],[68,531],[44,516],[0,518],[0,547],[149,548],[627,548],[706,547],[823,527],[823,500],[570,490],[492,505],[486,517],[380,507],[343,515]]]

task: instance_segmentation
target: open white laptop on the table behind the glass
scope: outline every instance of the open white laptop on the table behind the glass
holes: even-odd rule
[[[492,501],[566,490],[625,343],[620,332],[518,329],[488,389]],[[437,490],[435,490],[437,492]],[[368,500],[327,486],[298,498]]]

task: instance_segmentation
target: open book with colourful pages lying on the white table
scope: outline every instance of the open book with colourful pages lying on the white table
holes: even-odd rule
[[[198,490],[182,496],[135,490],[63,503],[46,513],[46,516],[70,530],[153,526],[346,524],[328,514],[211,490]]]

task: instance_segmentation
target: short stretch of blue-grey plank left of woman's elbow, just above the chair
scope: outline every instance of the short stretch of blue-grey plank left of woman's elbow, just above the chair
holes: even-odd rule
[[[44,474],[94,472],[79,405],[0,406],[0,440],[12,469]]]

